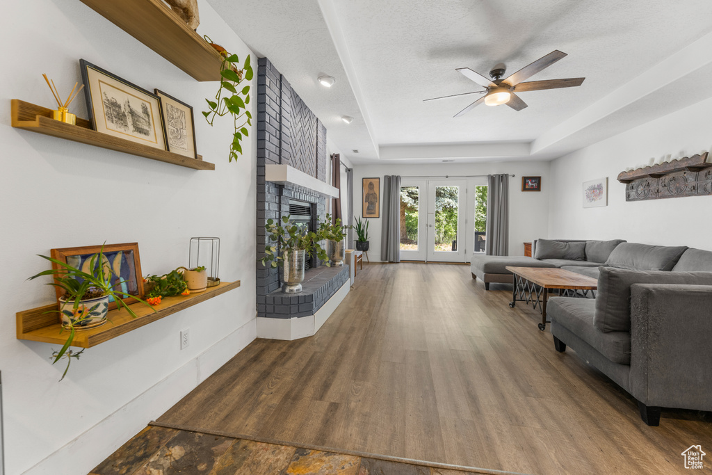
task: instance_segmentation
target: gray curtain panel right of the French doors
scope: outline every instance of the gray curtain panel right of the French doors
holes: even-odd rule
[[[509,174],[487,176],[487,240],[485,254],[509,254]]]

